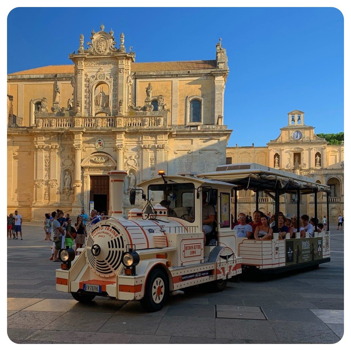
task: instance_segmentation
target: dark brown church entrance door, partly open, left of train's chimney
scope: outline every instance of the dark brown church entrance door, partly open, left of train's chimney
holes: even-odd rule
[[[108,213],[110,206],[110,177],[90,176],[90,201],[94,201],[94,209]]]

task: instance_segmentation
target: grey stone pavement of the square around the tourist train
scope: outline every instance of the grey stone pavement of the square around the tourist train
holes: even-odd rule
[[[7,327],[15,343],[336,343],[343,336],[344,231],[332,231],[332,260],[317,270],[242,277],[219,293],[200,285],[155,313],[101,297],[81,305],[56,291],[60,264],[49,260],[42,225],[24,223],[23,238],[7,240]]]

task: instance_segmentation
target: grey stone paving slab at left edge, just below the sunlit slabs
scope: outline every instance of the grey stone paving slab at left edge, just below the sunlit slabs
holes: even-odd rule
[[[19,311],[7,318],[7,327],[13,329],[42,329],[61,317],[61,312]],[[59,323],[56,322],[56,325]]]

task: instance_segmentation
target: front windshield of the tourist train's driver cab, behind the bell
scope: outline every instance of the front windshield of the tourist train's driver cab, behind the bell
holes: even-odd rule
[[[148,187],[148,198],[153,199],[153,205],[166,207],[168,216],[194,221],[193,183],[153,184]]]

